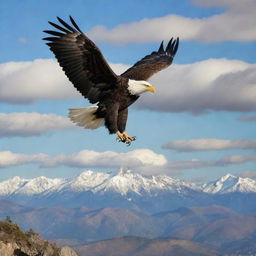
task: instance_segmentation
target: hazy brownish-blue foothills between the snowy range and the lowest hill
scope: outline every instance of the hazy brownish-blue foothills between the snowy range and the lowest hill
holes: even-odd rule
[[[62,245],[122,236],[148,239],[176,237],[222,251],[231,246],[235,250],[240,244],[241,248],[254,248],[256,253],[256,215],[243,215],[217,205],[181,207],[149,215],[120,208],[71,209],[55,206],[38,209],[0,201],[0,217],[6,215],[12,216],[24,229],[33,228]]]

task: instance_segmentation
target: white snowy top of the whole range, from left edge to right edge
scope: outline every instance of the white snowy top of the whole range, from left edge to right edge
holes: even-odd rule
[[[129,169],[117,173],[87,170],[72,179],[51,179],[44,176],[34,179],[13,177],[0,182],[0,196],[40,195],[58,192],[118,193],[130,198],[131,194],[156,196],[162,192],[187,194],[189,191],[206,193],[256,192],[256,181],[227,174],[201,187],[166,175],[145,176]]]

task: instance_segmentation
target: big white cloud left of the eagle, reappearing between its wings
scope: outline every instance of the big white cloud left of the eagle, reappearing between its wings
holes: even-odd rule
[[[119,73],[125,65],[114,64]],[[0,102],[31,104],[39,99],[82,97],[52,59],[0,64]]]

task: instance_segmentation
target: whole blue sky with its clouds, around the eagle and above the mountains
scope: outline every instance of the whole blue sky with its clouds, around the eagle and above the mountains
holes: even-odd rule
[[[256,177],[253,0],[0,5],[0,180],[120,167],[196,181],[227,172]],[[181,38],[174,65],[150,80],[158,93],[142,95],[130,108],[127,131],[137,136],[130,147],[105,128],[76,128],[65,117],[68,108],[88,102],[41,38],[48,20],[70,14],[117,73],[158,49],[162,39]]]

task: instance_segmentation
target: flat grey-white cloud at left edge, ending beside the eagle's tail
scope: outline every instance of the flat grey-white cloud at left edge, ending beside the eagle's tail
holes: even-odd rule
[[[55,114],[0,113],[0,137],[27,137],[74,127],[67,117]]]

